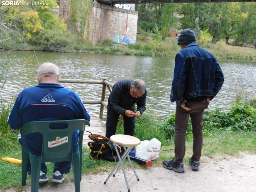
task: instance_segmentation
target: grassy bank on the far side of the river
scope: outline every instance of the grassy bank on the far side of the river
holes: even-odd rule
[[[256,51],[249,47],[237,47],[226,45],[224,41],[214,43],[197,42],[200,47],[214,54],[216,58],[227,59],[246,59],[256,60]],[[140,55],[140,56],[175,56],[180,50],[177,45],[177,38],[166,38],[160,42],[160,48],[152,49],[151,37],[144,38],[142,35],[137,35],[136,45],[118,44],[110,40],[99,42],[97,46],[88,43],[69,45],[68,47],[59,47],[52,49],[58,52],[84,52],[84,53],[107,53],[107,54],[124,54],[124,55]],[[56,45],[57,46],[57,45]],[[10,50],[22,51],[48,51],[43,47],[35,47],[25,42],[14,43],[10,45]]]

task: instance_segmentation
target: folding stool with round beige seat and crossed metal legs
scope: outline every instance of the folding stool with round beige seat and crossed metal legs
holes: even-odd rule
[[[109,174],[109,176],[106,179],[106,181],[104,182],[104,184],[106,184],[106,182],[108,181],[110,176],[113,175],[113,177],[115,177],[115,174],[118,172],[120,167],[122,167],[123,173],[124,173],[125,183],[126,183],[128,192],[130,192],[130,187],[129,187],[128,182],[133,178],[134,175],[137,177],[138,181],[139,181],[139,177],[138,177],[138,175],[137,175],[137,173],[136,173],[136,171],[135,171],[135,169],[134,169],[134,167],[132,165],[131,159],[129,158],[129,153],[132,150],[133,146],[139,145],[141,143],[141,140],[139,140],[138,138],[136,138],[134,136],[130,136],[130,135],[112,135],[110,137],[110,140],[113,142],[115,150],[117,151],[117,155],[118,155],[119,161],[118,161],[117,165],[115,165],[115,168],[112,170],[112,172]],[[119,152],[118,152],[118,149],[117,149],[117,145],[123,145],[124,146],[125,152],[124,152],[122,158],[119,155]],[[124,160],[126,158],[129,160],[129,163],[130,163],[130,165],[131,165],[131,167],[133,169],[133,172],[134,172],[132,177],[129,178],[128,180],[127,180],[126,173],[125,173],[125,170],[124,170],[124,165],[123,165],[123,162],[124,162]]]

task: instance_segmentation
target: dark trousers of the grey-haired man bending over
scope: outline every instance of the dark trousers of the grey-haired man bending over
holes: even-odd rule
[[[129,109],[135,112],[135,109]],[[110,138],[112,135],[115,135],[115,131],[117,130],[117,122],[119,115],[117,112],[108,109],[107,111],[107,120],[106,120],[106,137]],[[134,136],[135,131],[135,117],[127,117],[123,116],[124,119],[124,134]]]

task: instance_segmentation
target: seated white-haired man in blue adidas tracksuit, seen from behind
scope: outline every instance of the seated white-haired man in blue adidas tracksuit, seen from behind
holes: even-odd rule
[[[59,69],[55,64],[43,63],[38,69],[38,85],[24,89],[17,97],[8,123],[12,129],[20,129],[24,124],[37,120],[86,119],[91,116],[79,96],[60,85]],[[79,133],[73,134],[73,150],[77,147]],[[41,155],[43,138],[40,133],[26,134],[26,146],[34,155]],[[19,138],[21,143],[21,139]],[[61,183],[64,173],[69,173],[71,162],[57,162],[53,170],[52,182]],[[30,162],[28,173],[31,173]],[[48,181],[46,164],[42,163],[39,183]]]

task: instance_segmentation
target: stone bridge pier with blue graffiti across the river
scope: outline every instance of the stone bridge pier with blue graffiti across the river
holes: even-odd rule
[[[97,45],[107,39],[116,43],[135,44],[137,36],[138,11],[115,6],[92,3],[89,15],[89,42]],[[66,19],[71,15],[68,0],[60,0],[59,17]],[[87,26],[84,39],[87,37]]]

